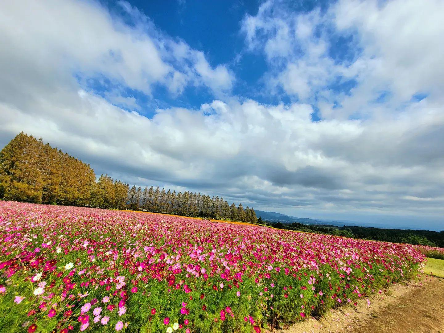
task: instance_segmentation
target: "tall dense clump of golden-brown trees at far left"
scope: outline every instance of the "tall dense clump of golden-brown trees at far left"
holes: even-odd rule
[[[0,194],[8,200],[87,206],[91,167],[21,132],[0,152]]]

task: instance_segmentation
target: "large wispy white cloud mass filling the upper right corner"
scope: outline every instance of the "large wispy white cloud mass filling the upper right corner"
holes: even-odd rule
[[[269,92],[281,87],[312,103],[317,96],[325,118],[369,117],[398,110],[416,93],[442,102],[443,13],[444,3],[433,0],[341,0],[306,13],[267,1],[256,16],[246,16],[242,32],[247,48],[268,60]],[[351,38],[339,46],[350,54],[337,59],[330,51],[339,37]],[[350,94],[329,91],[349,79],[356,81]],[[369,106],[384,92],[386,104]]]

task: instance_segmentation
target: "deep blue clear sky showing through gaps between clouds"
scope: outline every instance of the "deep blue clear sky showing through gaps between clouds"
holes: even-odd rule
[[[266,89],[266,75],[270,71],[279,71],[284,66],[281,60],[266,61],[260,49],[246,49],[245,33],[242,31],[243,23],[248,16],[256,16],[261,3],[257,1],[234,3],[229,1],[131,1],[127,3],[116,1],[105,1],[106,6],[112,15],[118,16],[127,24],[136,25],[140,23],[140,17],[135,17],[134,13],[127,12],[127,6],[132,6],[133,10],[139,11],[136,16],[143,16],[143,20],[148,20],[147,25],[157,32],[165,34],[176,41],[182,40],[191,48],[205,53],[206,60],[210,65],[226,64],[235,74],[234,85],[231,94],[240,98],[252,98],[261,103],[278,104],[292,103],[298,101],[297,95],[286,94],[285,90],[278,89],[275,94],[270,94]],[[297,4],[291,2],[281,2],[281,9],[304,14],[313,10],[325,12],[329,4],[325,1],[301,1]],[[150,30],[146,27],[146,30]],[[324,30],[332,29],[329,23],[322,22],[314,27],[314,37],[319,38]],[[268,33],[268,32],[267,32]],[[263,38],[264,42],[267,33]],[[328,55],[336,63],[351,62],[360,52],[359,46],[353,43],[353,36],[349,34],[331,33],[327,36],[329,40]],[[303,53],[297,45],[295,50]],[[331,82],[325,82],[325,87],[332,89],[335,93],[348,94],[350,89],[356,85],[356,81],[337,75]],[[93,82],[87,86],[96,94],[102,94],[110,89],[109,82],[105,86]],[[154,87],[155,107],[190,107],[199,108],[202,103],[210,103],[214,95],[207,88],[185,88],[180,96],[171,96],[165,87]],[[127,90],[125,95],[130,95],[139,100],[140,103],[147,103],[147,96],[143,91]],[[317,116],[317,96],[313,95],[310,101],[314,111],[313,119]],[[119,105],[120,107],[125,107]],[[148,117],[153,115],[152,108],[141,110]]]

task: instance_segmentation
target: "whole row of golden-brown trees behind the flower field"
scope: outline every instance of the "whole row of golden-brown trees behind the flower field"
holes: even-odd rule
[[[0,152],[0,198],[33,203],[231,219],[256,223],[253,208],[222,197],[151,186],[131,186],[102,174],[49,143],[20,132]]]

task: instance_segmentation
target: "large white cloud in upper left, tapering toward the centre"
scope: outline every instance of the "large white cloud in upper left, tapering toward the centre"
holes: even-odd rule
[[[162,35],[136,8],[121,4],[133,16],[134,26],[93,1],[4,2],[0,12],[2,63],[17,62],[12,57],[18,53],[24,62],[40,63],[46,76],[60,72],[104,75],[146,94],[151,94],[155,83],[174,94],[190,83],[207,85],[217,93],[231,88],[234,78],[224,65],[212,68],[202,52]],[[171,52],[179,48],[186,48],[188,54]],[[190,56],[193,52],[198,56]]]

